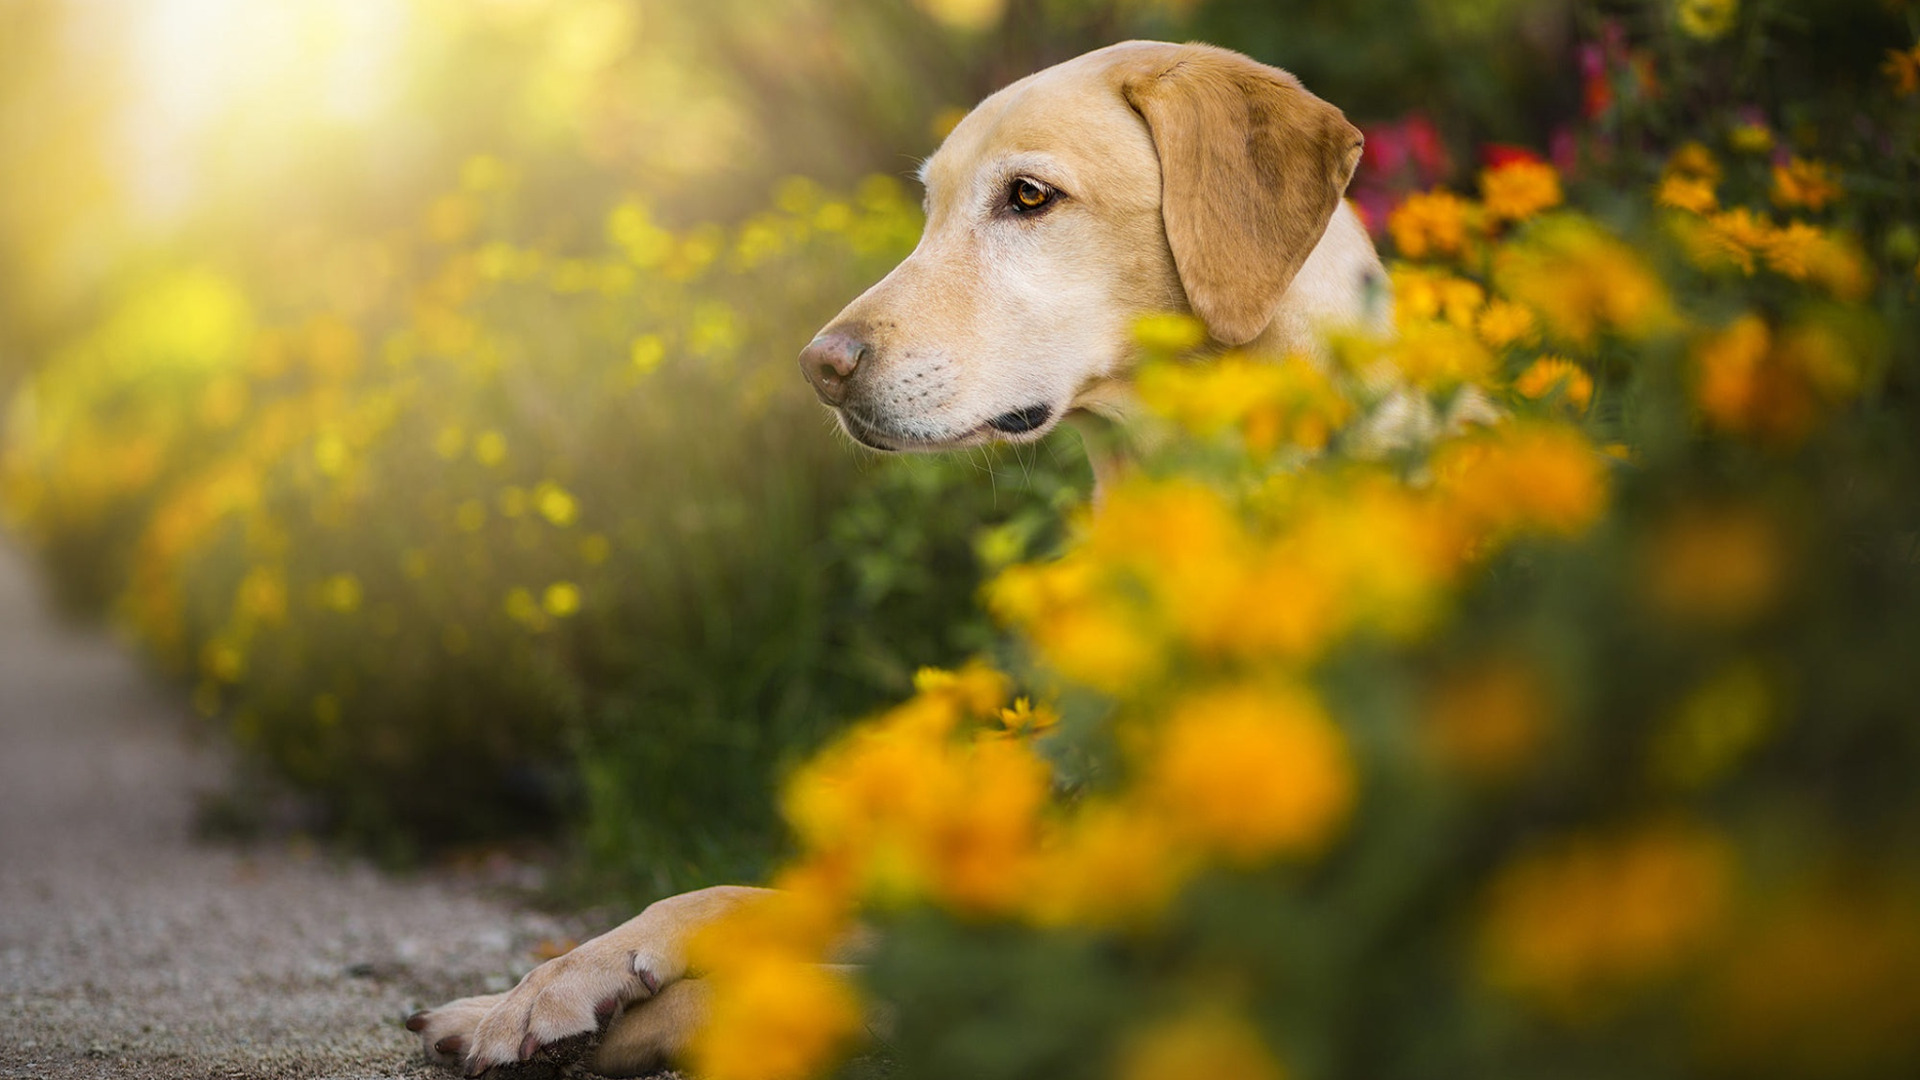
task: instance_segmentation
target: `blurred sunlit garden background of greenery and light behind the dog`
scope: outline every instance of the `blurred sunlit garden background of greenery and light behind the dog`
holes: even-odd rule
[[[1745,85],[1832,90],[1801,123],[1880,81],[1849,40],[1905,27],[1766,12],[1832,38]],[[1663,27],[1561,0],[10,0],[0,505],[238,749],[211,826],[292,792],[300,828],[397,863],[534,834],[595,896],[749,878],[774,778],[991,646],[979,582],[1087,488],[1071,434],[856,454],[793,369],[912,248],[906,177],[966,108],[1129,37],[1238,48],[1367,127],[1379,229],[1486,142],[1628,123],[1596,119],[1645,88],[1605,35]]]

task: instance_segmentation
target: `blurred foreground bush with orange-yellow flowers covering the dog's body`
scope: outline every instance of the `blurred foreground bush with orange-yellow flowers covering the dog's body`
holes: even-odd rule
[[[996,661],[793,774],[695,1068],[829,1072],[852,992],[908,1076],[1920,1067],[1914,252],[1830,217],[1899,184],[1657,171],[1407,198],[1384,342],[1142,323],[1154,450],[987,584]]]

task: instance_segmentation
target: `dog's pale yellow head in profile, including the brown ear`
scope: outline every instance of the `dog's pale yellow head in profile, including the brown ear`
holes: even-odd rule
[[[927,160],[920,246],[801,369],[877,450],[1039,438],[1125,379],[1144,313],[1260,336],[1359,144],[1298,79],[1223,48],[1125,42],[1048,67]]]

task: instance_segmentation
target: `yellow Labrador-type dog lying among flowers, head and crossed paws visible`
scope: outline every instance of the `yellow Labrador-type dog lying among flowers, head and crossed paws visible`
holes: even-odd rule
[[[1217,346],[1263,356],[1379,329],[1384,271],[1342,198],[1359,154],[1340,110],[1223,48],[1123,42],[1048,67],[981,102],[925,161],[920,244],[801,352],[801,371],[852,440],[937,452],[1125,419],[1148,313],[1190,311]],[[1096,459],[1096,484],[1116,467]],[[760,894],[660,899],[511,992],[407,1028],[478,1076],[605,1026],[591,1067],[645,1072],[705,1015],[689,936]]]

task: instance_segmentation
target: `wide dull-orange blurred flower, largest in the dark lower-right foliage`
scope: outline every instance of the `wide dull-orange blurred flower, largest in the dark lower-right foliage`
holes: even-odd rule
[[[1482,970],[1549,1011],[1592,1015],[1697,955],[1732,876],[1728,844],[1688,822],[1524,855],[1490,888]]]

